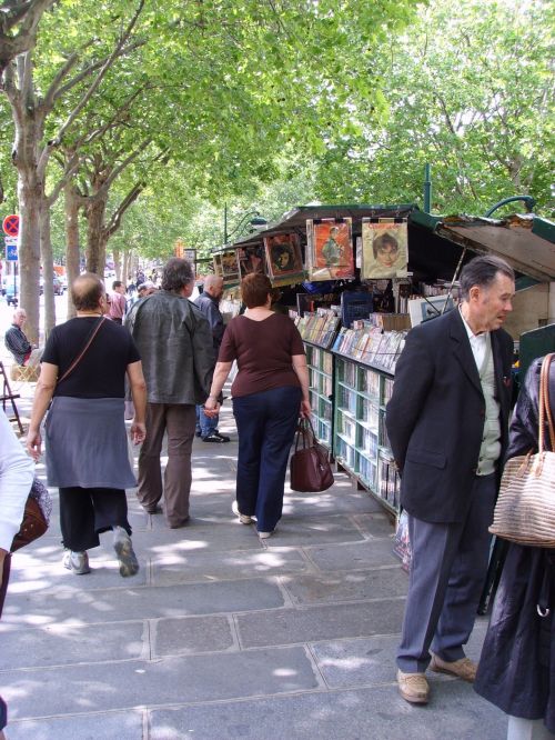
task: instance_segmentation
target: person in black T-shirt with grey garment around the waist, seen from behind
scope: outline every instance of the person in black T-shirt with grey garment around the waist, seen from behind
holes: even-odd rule
[[[131,543],[125,488],[137,486],[128,457],[123,419],[128,377],[135,416],[131,437],[145,437],[147,387],[130,333],[103,317],[105,290],[100,278],[81,274],[71,287],[77,318],[50,333],[37,390],[27,448],[41,454],[46,428],[49,486],[60,490],[60,526],[65,548],[63,564],[77,574],[90,572],[87,550],[100,544],[99,534],[113,530],[123,577],[139,570]]]

